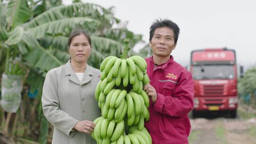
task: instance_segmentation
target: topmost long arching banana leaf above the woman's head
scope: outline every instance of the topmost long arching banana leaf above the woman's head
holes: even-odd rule
[[[62,5],[53,9],[49,9],[24,24],[24,27],[37,27],[51,21],[73,17],[89,17],[98,19],[105,26],[109,27],[116,22],[116,18],[113,17],[113,13],[110,12],[110,10],[104,9],[97,4],[78,2],[73,3],[72,5]]]

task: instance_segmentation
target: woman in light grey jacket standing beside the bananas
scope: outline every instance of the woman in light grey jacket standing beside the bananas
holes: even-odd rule
[[[47,72],[42,95],[43,111],[54,126],[52,144],[96,144],[91,137],[101,116],[94,90],[100,71],[87,64],[91,38],[74,31],[68,39],[71,60]]]

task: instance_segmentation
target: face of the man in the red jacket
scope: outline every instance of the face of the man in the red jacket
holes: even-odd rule
[[[153,56],[167,57],[175,49],[174,31],[168,27],[158,27],[155,29],[149,45],[153,51]]]

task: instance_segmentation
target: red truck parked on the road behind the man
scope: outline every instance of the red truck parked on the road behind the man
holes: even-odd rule
[[[234,50],[194,50],[190,71],[195,89],[192,117],[203,111],[228,112],[232,118],[237,117],[238,72]]]

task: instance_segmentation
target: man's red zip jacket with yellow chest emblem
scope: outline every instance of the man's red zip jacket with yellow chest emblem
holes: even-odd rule
[[[194,97],[190,72],[176,63],[173,56],[161,65],[155,66],[153,56],[146,63],[150,84],[157,92],[155,103],[150,99],[150,118],[145,122],[152,144],[188,144],[188,113]]]

